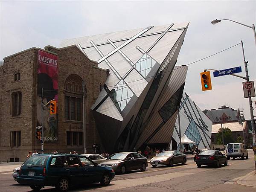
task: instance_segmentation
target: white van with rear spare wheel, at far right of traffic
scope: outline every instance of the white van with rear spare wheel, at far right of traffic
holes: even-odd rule
[[[248,159],[248,151],[244,148],[242,143],[228,143],[226,148],[227,159],[230,160],[230,157],[235,159],[236,157],[241,157],[241,159]]]

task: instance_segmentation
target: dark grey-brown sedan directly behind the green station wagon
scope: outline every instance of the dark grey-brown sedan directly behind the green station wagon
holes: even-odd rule
[[[127,171],[137,169],[145,171],[148,166],[148,160],[139,153],[122,152],[111,155],[100,166],[111,167],[115,172],[124,174]]]

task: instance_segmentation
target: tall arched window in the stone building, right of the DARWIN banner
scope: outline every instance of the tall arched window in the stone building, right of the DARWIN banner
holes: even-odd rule
[[[65,80],[65,119],[73,121],[82,121],[82,89],[83,88],[81,77],[77,75],[70,75]]]

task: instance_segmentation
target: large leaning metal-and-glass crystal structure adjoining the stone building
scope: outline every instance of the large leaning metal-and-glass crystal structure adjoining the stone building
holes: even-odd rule
[[[77,44],[109,76],[91,107],[105,151],[169,147],[187,67],[175,66],[188,23],[63,41]]]

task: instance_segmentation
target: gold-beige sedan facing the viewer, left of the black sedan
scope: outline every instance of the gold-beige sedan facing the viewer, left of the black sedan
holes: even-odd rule
[[[185,165],[186,154],[183,154],[180,151],[163,151],[150,160],[150,164],[152,167],[157,167],[158,165],[173,166],[173,164],[176,163],[181,163]]]

